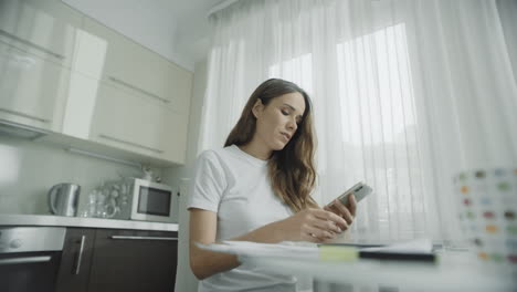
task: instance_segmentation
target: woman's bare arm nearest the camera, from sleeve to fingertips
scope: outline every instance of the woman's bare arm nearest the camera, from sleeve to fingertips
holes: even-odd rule
[[[240,264],[236,255],[203,250],[194,244],[194,242],[203,244],[215,242],[217,217],[218,215],[212,211],[190,209],[190,268],[199,280]],[[348,225],[341,217],[323,209],[306,209],[231,240],[263,243],[285,240],[323,242],[335,238],[346,229]]]

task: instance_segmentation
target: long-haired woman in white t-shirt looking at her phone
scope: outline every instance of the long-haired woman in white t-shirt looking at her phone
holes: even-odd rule
[[[316,173],[310,101],[278,79],[251,95],[224,148],[196,165],[190,210],[190,265],[199,291],[295,291],[296,279],[243,267],[233,254],[194,242],[333,239],[354,220],[356,201],[320,209],[310,197]]]

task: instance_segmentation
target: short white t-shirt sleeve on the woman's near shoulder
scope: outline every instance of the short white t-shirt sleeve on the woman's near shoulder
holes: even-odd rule
[[[203,152],[196,161],[188,209],[199,208],[218,212],[225,187],[224,170],[217,154],[213,150]]]

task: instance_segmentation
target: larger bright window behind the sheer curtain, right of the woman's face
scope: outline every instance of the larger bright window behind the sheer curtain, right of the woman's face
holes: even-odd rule
[[[425,200],[405,25],[339,43],[337,60],[346,167],[379,190],[369,205],[377,218],[358,230],[380,239],[418,237]]]

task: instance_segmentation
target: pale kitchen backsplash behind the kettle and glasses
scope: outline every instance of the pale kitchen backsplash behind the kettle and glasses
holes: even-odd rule
[[[161,176],[161,169],[152,171]],[[81,186],[81,211],[95,187],[126,176],[141,177],[143,173],[137,167],[73,154],[52,144],[0,136],[0,213],[50,213],[48,191],[59,182]]]

